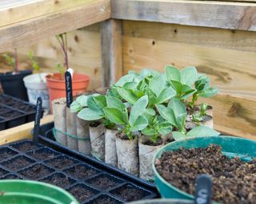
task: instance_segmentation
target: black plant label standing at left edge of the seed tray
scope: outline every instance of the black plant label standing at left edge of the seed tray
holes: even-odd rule
[[[41,116],[42,116],[42,98],[38,97],[35,118],[34,118],[34,131],[33,131],[33,143],[35,145],[38,145],[38,135],[39,135]]]

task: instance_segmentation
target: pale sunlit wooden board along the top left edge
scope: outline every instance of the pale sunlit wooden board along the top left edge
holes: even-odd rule
[[[85,6],[94,0],[15,0],[1,2],[0,27],[38,18],[46,14],[70,9],[75,6]]]

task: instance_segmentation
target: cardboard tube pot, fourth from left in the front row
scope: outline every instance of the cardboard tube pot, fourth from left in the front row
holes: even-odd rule
[[[92,155],[105,161],[105,128],[102,123],[90,123],[90,145]]]

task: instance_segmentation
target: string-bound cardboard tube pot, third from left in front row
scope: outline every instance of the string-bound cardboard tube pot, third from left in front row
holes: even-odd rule
[[[89,121],[77,117],[78,151],[86,155],[91,151],[89,124]]]

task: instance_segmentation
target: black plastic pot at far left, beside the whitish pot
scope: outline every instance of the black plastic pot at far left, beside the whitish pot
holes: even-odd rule
[[[16,74],[13,74],[13,72],[0,73],[3,92],[15,98],[28,101],[23,78],[30,74],[32,74],[31,70],[19,71]]]

